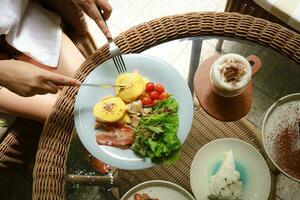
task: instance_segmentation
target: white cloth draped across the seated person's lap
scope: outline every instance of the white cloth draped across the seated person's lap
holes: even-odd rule
[[[57,67],[61,18],[36,1],[0,0],[0,34],[19,51],[41,64]]]

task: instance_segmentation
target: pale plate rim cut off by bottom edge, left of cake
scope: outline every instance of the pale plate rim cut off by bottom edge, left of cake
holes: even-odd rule
[[[175,183],[153,180],[131,188],[121,200],[134,200],[135,193],[146,193],[151,198],[172,200],[195,200],[185,189]]]

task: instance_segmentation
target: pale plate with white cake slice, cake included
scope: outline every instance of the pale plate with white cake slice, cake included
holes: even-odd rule
[[[267,200],[271,176],[252,145],[235,138],[217,139],[195,155],[190,184],[197,200]]]

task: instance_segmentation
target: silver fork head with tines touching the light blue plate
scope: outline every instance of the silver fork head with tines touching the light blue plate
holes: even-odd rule
[[[125,66],[125,62],[122,58],[121,51],[120,51],[119,47],[117,47],[117,45],[115,44],[115,42],[113,40],[109,41],[109,52],[115,63],[118,73],[121,74],[121,73],[126,72],[127,69]]]

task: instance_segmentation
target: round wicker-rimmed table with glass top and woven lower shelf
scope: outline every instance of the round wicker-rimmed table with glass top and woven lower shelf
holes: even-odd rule
[[[216,51],[223,41],[220,51]],[[78,89],[60,96],[41,135],[33,172],[33,199],[115,199],[146,180],[174,182],[192,193],[189,175],[193,157],[206,143],[234,137],[252,144],[264,156],[272,178],[278,171],[264,153],[260,127],[266,110],[280,97],[300,92],[300,36],[278,24],[237,13],[188,13],[159,18],[122,33],[115,43],[125,54],[155,56],[172,65],[186,79],[191,91],[199,64],[216,54],[256,55],[262,67],[252,81],[249,113],[234,122],[207,115],[197,100],[193,126],[183,144],[181,158],[171,166],[146,170],[112,169],[103,175],[91,162],[74,128],[74,102]],[[83,81],[110,58],[109,46],[95,52],[77,72]],[[197,87],[197,86],[196,86]],[[118,188],[119,190],[117,190]],[[270,199],[275,198],[272,179]],[[118,194],[119,193],[119,194]]]

